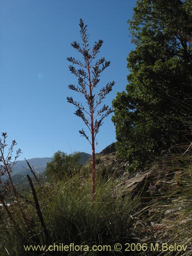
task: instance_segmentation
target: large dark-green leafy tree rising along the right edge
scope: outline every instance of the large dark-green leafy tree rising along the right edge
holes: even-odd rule
[[[191,140],[192,2],[137,1],[126,92],[113,101],[117,151],[132,166]]]

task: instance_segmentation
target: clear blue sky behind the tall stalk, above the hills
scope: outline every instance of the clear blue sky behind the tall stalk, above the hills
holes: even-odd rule
[[[80,42],[82,18],[90,46],[102,39],[99,56],[111,61],[98,85],[115,81],[103,102],[111,105],[127,84],[126,58],[134,49],[127,19],[135,4],[136,0],[0,0],[0,132],[7,132],[8,142],[17,141],[23,152],[18,160],[51,157],[58,150],[91,153],[90,144],[78,133],[84,124],[66,100],[73,96],[81,101],[81,95],[68,89],[77,79],[66,58],[81,58],[71,42]],[[100,127],[96,152],[116,141],[111,116]]]

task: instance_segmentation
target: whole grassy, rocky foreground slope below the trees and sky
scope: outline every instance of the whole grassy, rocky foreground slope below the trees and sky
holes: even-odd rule
[[[117,159],[114,153],[98,155],[94,202],[89,161],[79,173],[74,172],[67,179],[41,181],[35,185],[35,193],[28,189],[17,195],[25,219],[16,201],[1,208],[1,255],[88,255],[86,246],[93,245],[110,245],[112,250],[89,251],[89,255],[190,255],[190,159],[188,145],[184,154],[167,155],[140,180],[142,170],[135,174],[127,172],[127,162]],[[131,182],[127,189],[125,185]],[[27,245],[54,243],[82,245],[85,251],[63,254],[39,248],[25,250]],[[123,246],[121,251],[114,251],[116,243],[141,244],[143,250],[125,251]],[[160,248],[162,243],[168,246],[177,243],[183,248],[187,246],[187,250],[151,251],[148,246],[158,244]]]

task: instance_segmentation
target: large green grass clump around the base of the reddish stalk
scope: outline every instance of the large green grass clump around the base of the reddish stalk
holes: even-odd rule
[[[91,186],[91,180],[81,180],[78,176],[54,185],[44,212],[52,241],[57,244],[111,245],[111,248],[115,243],[133,241],[132,215],[138,207],[139,196],[134,200],[131,195],[116,198],[112,180],[100,181],[93,203]],[[89,255],[102,253],[90,251]],[[114,251],[105,254],[119,255]],[[70,255],[79,254],[71,252]]]

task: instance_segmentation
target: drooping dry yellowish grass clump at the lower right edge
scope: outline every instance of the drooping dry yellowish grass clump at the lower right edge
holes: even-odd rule
[[[172,148],[159,166],[158,171],[162,176],[156,180],[154,188],[160,194],[153,198],[144,220],[148,223],[148,230],[151,230],[147,241],[184,247],[181,250],[159,252],[157,255],[192,255],[191,145],[181,144]]]

